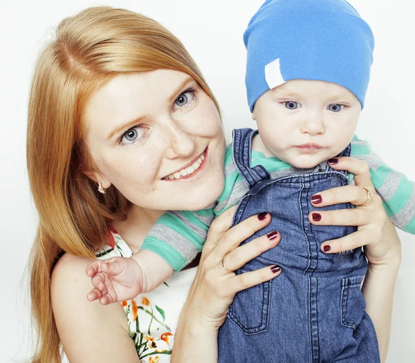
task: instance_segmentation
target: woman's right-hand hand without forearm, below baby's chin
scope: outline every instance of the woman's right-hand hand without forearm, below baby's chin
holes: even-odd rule
[[[391,222],[382,206],[382,199],[376,194],[375,187],[371,182],[369,167],[365,161],[353,157],[338,157],[331,159],[331,161],[334,161],[334,163],[330,163],[331,168],[353,173],[356,185],[332,188],[324,190],[318,195],[313,195],[311,200],[313,206],[318,208],[350,202],[356,208],[322,210],[317,213],[321,215],[319,221],[315,221],[316,218],[313,219],[315,212],[312,212],[308,219],[312,224],[358,226],[358,230],[345,237],[324,242],[322,251],[337,253],[365,246],[366,257],[371,267],[400,259],[400,244],[396,243],[394,237],[384,238],[386,234],[390,235],[389,224]],[[368,194],[365,188],[373,193],[373,197],[364,206],[361,206],[367,201]]]

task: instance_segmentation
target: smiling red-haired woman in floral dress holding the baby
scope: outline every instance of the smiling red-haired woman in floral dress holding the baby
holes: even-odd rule
[[[224,150],[212,92],[160,24],[111,8],[89,8],[59,24],[30,92],[28,170],[39,212],[30,286],[39,327],[33,362],[60,362],[61,344],[70,362],[216,361],[217,330],[234,294],[281,272],[269,266],[236,276],[223,267],[233,271],[277,246],[284,236],[238,247],[270,215],[230,228],[230,209],[210,228],[197,273],[189,268],[123,304],[88,302],[85,268],[97,254],[138,251],[165,210],[197,210],[216,199]],[[167,177],[200,155],[203,167],[192,177]],[[355,174],[356,186],[327,190],[321,205],[363,204],[361,186],[374,190],[367,166],[345,158],[336,168]],[[324,211],[313,223],[359,226],[333,242],[330,253],[366,245],[363,291],[385,359],[400,244],[380,199],[349,213]]]

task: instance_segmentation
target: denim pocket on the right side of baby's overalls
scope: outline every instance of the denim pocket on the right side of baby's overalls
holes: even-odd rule
[[[356,329],[365,314],[366,300],[360,291],[365,276],[344,277],[342,280],[342,325]]]

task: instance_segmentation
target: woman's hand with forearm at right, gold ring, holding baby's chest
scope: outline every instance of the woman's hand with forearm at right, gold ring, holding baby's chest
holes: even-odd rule
[[[366,312],[374,323],[381,362],[385,362],[389,348],[391,332],[391,312],[394,302],[396,276],[400,266],[400,240],[394,225],[385,213],[382,201],[370,179],[369,168],[365,161],[351,157],[339,157],[337,164],[332,168],[348,170],[354,174],[356,186],[342,186],[319,193],[313,196],[315,207],[329,206],[351,202],[354,209],[321,211],[320,221],[313,220],[313,213],[308,217],[313,224],[358,226],[358,230],[351,235],[326,241],[322,244],[330,246],[326,253],[347,251],[351,248],[364,246],[369,262],[369,271],[362,285],[362,293],[366,300]],[[374,196],[367,201],[368,188]],[[317,218],[318,219],[318,218]]]

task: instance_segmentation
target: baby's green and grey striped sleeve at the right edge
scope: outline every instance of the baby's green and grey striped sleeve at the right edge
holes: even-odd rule
[[[366,141],[354,137],[351,141],[351,157],[364,160],[369,165],[371,180],[391,221],[398,228],[415,234],[414,181],[389,168],[376,155]]]

